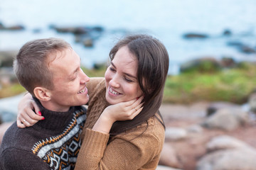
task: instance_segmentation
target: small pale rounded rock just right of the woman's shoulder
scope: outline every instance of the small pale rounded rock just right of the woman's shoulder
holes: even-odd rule
[[[166,140],[183,140],[187,137],[188,132],[183,128],[166,128]]]

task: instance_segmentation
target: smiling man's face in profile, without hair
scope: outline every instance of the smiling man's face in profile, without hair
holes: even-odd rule
[[[80,57],[72,49],[58,51],[50,62],[53,90],[50,90],[52,111],[68,111],[70,106],[80,106],[89,101],[86,82],[89,77],[80,68]],[[51,58],[51,57],[49,57]]]

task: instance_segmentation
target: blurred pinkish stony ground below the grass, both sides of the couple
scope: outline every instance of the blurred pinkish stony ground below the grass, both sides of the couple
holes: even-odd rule
[[[0,99],[0,136],[23,94]],[[163,104],[166,140],[157,170],[254,170],[256,115],[229,102]],[[1,138],[0,137],[0,138]],[[0,140],[1,142],[1,140]]]

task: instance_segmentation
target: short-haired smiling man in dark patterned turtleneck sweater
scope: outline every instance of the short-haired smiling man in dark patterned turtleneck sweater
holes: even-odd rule
[[[74,169],[86,118],[81,105],[89,100],[90,79],[80,57],[64,40],[33,40],[19,50],[14,70],[45,119],[24,129],[11,125],[1,143],[0,168]]]

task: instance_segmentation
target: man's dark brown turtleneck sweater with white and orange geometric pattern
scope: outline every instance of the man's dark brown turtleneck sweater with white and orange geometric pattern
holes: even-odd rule
[[[36,103],[46,119],[24,129],[11,125],[1,143],[0,168],[74,169],[86,109],[77,106],[60,113],[48,111],[38,100]]]

